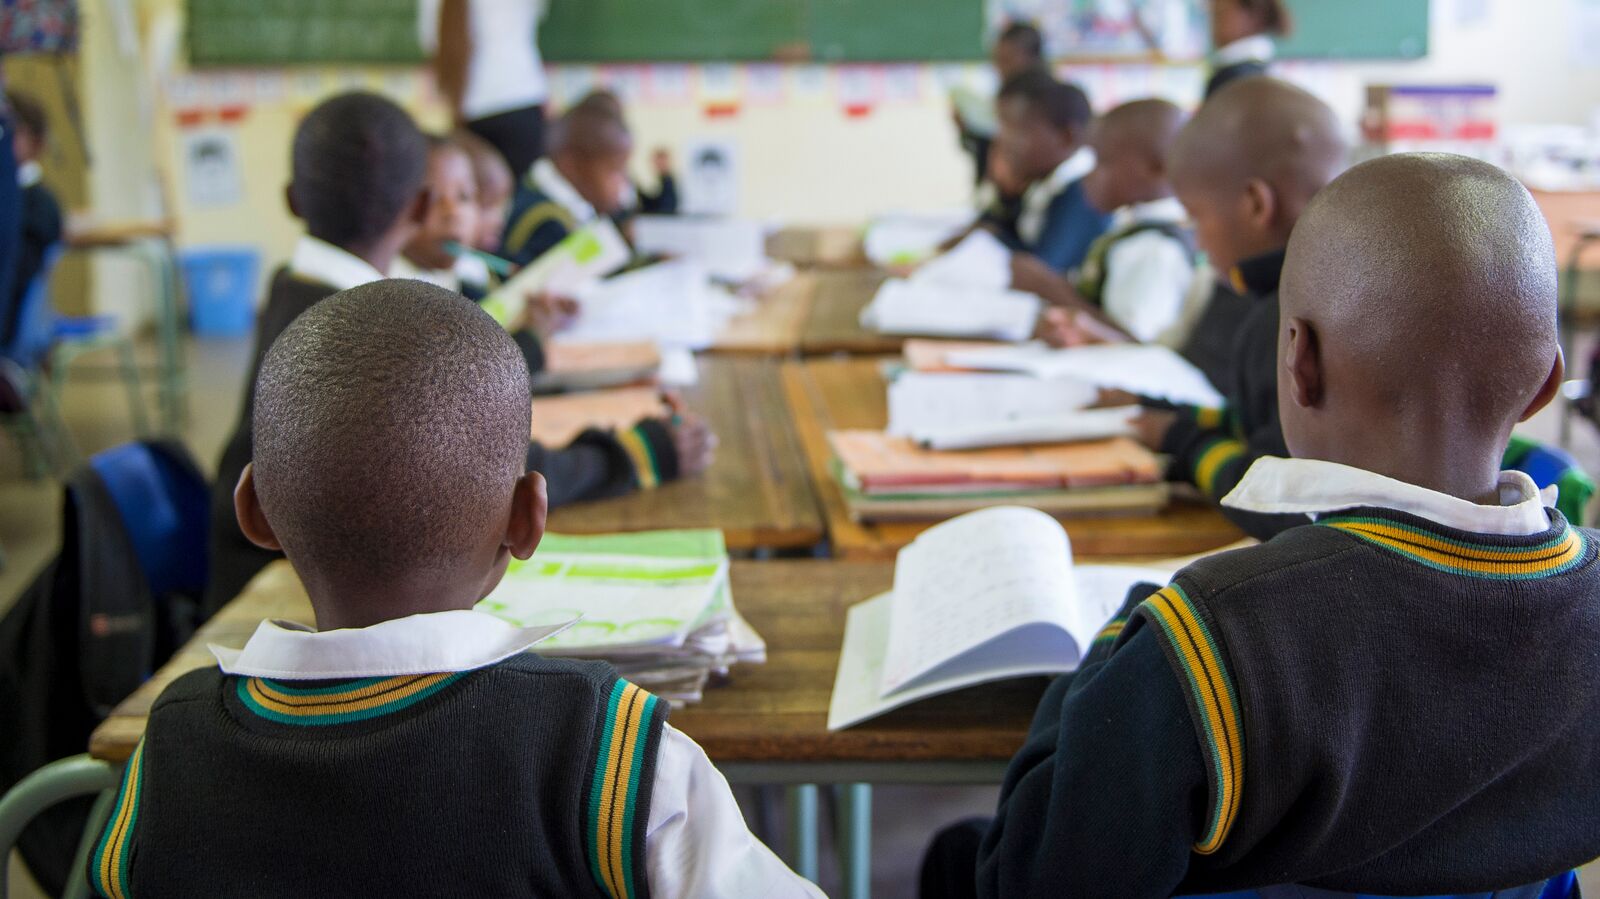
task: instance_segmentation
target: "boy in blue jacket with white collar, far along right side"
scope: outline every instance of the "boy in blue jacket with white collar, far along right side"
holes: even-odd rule
[[[1094,168],[1094,152],[1083,146],[1090,101],[1075,85],[1030,69],[1006,80],[997,102],[998,150],[1011,173],[1029,182],[1016,222],[1018,250],[1067,274],[1110,224],[1083,195],[1083,176]]]

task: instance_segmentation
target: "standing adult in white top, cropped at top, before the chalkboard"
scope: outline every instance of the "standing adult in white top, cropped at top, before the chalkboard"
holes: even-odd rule
[[[421,0],[418,32],[458,126],[520,178],[544,155],[549,85],[539,59],[546,0]]]

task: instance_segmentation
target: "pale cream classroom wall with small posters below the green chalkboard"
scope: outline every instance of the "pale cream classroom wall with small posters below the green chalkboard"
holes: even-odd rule
[[[1581,45],[1571,37],[1581,30],[1574,19],[1581,3],[1435,0],[1432,6],[1427,59],[1288,62],[1280,70],[1333,104],[1352,131],[1365,85],[1376,82],[1493,82],[1502,91],[1506,123],[1592,120],[1600,72],[1573,59]],[[86,18],[91,8],[99,10],[86,5]],[[130,70],[107,29],[86,27],[86,117],[94,146],[106,150],[96,154],[90,176],[93,206],[147,208],[149,166],[158,166],[171,182],[184,245],[253,245],[269,267],[290,251],[298,229],[282,200],[288,139],[320,96],[363,86],[395,98],[424,125],[443,123],[429,78],[411,69],[186,72],[178,46],[181,3],[149,0],[139,10],[142,61],[134,67],[150,70],[149,78]],[[1600,42],[1586,46],[1587,64],[1600,64]],[[1102,107],[1147,94],[1194,102],[1202,85],[1192,64],[1062,70]],[[790,222],[856,222],[885,210],[966,203],[970,165],[955,142],[946,91],[954,82],[986,78],[979,66],[552,69],[557,101],[600,82],[624,94],[643,181],[650,181],[651,147],[667,146],[682,158],[693,141],[728,139],[739,152],[739,214]],[[154,104],[147,125],[139,118],[146,104]],[[182,149],[205,130],[229,134],[237,147],[243,173],[237,203],[205,205],[190,195]],[[131,134],[147,136],[144,147],[130,147]],[[115,293],[99,290],[101,307],[118,302]]]

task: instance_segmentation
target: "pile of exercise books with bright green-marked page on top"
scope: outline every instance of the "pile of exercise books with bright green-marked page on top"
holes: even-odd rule
[[[766,643],[733,606],[715,529],[546,534],[478,608],[518,627],[571,622],[534,651],[611,662],[674,705],[699,702],[734,664],[766,661]]]

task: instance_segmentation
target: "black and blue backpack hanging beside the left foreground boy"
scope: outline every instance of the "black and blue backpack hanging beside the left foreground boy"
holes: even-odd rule
[[[117,702],[194,633],[206,496],[176,443],[107,450],[67,481],[61,555],[0,617],[0,785],[82,752]],[[51,776],[43,782],[30,790],[50,795]],[[59,893],[75,880],[69,865],[91,808],[24,805],[37,821],[19,846],[42,886]]]

